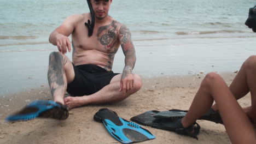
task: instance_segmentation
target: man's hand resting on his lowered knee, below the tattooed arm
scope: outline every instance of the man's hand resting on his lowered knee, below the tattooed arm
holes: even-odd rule
[[[123,70],[123,74],[120,80],[120,89],[119,92],[123,91],[123,94],[127,93],[134,86],[134,77],[131,73],[132,68],[127,66]]]

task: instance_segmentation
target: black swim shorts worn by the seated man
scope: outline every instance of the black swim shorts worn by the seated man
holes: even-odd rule
[[[73,65],[75,77],[67,85],[71,96],[90,95],[108,85],[111,79],[118,75],[94,64]]]

